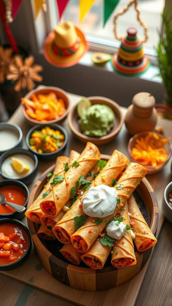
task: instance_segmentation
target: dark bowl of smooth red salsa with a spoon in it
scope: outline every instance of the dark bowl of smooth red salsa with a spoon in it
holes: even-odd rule
[[[29,191],[27,186],[21,181],[0,181],[0,193],[6,196],[6,201],[22,205],[27,208]],[[24,212],[19,213],[7,204],[0,205],[0,218],[21,219],[24,216]]]

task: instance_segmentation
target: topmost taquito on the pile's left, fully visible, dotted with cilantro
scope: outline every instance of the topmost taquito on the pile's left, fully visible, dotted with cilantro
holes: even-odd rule
[[[40,203],[40,208],[48,216],[56,216],[71,198],[71,190],[76,188],[76,182],[81,175],[86,177],[96,162],[100,159],[100,152],[95,144],[88,142],[75,165],[63,175],[63,181],[53,186],[46,199]],[[73,188],[73,189],[72,189]]]

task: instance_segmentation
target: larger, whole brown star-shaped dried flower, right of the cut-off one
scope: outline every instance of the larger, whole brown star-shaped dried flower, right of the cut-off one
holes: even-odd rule
[[[42,81],[42,76],[38,72],[43,70],[41,65],[34,64],[34,57],[30,55],[24,60],[20,55],[15,56],[15,62],[9,66],[9,74],[7,80],[17,81],[14,89],[20,91],[21,88],[32,90],[36,82]],[[33,66],[32,66],[33,65]]]

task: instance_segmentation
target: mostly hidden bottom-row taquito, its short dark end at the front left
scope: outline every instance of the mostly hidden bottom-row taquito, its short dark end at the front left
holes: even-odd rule
[[[71,243],[64,244],[60,249],[60,252],[65,257],[65,259],[69,260],[71,263],[75,265],[79,265],[81,262],[81,253],[77,252]]]

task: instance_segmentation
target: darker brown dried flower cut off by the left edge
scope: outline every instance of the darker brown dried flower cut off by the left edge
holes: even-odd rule
[[[4,83],[6,80],[6,75],[9,72],[9,65],[13,62],[11,58],[13,54],[13,49],[4,49],[0,46],[0,83]]]

